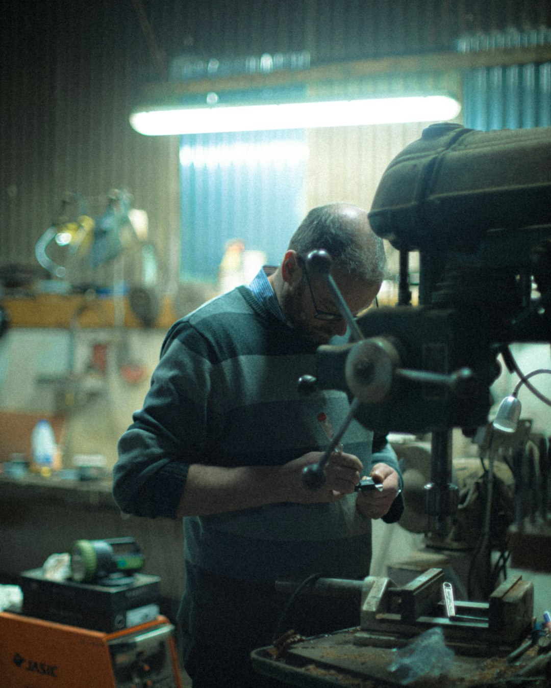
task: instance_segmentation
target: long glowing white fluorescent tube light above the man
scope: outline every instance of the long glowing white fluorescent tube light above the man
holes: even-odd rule
[[[209,94],[214,95],[214,94]],[[216,101],[216,98],[212,98]],[[309,129],[396,122],[442,122],[459,114],[449,96],[407,96],[280,105],[214,105],[141,109],[130,124],[146,136],[267,129]]]

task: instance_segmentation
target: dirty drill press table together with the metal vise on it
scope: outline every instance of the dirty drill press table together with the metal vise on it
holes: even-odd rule
[[[349,581],[351,588],[360,582]],[[504,678],[519,671],[519,664],[508,662],[508,655],[532,631],[532,583],[521,576],[510,577],[488,603],[455,602],[453,616],[446,616],[443,583],[444,573],[437,568],[402,587],[385,577],[368,577],[363,583],[360,627],[300,639],[283,653],[274,647],[260,648],[251,654],[253,666],[261,674],[311,688],[328,683],[357,688],[406,685],[403,677],[389,669],[396,650],[439,627],[446,647],[453,650],[453,663],[448,674],[438,678],[439,688],[458,684],[481,688],[498,685],[498,681],[503,685]],[[311,594],[316,594],[316,585],[318,594],[330,587],[320,579]],[[521,663],[533,660],[534,652],[526,652]]]

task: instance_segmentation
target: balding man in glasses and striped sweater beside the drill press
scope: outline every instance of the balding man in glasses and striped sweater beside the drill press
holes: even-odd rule
[[[331,255],[351,312],[367,308],[384,277],[381,239],[360,208],[313,209],[275,271],[171,327],[143,409],[119,442],[121,509],[184,517],[179,621],[194,688],[272,685],[249,654],[270,645],[278,625],[304,635],[357,625],[357,603],[309,596],[282,618],[287,599],[275,581],[368,575],[371,519],[388,513],[401,486],[393,451],[383,442],[372,455],[373,433],[355,421],[323,486],[302,480],[329,444],[320,413],[337,429],[349,410],[342,392],[298,392],[300,376],[315,374],[318,345],[346,332],[329,288],[309,274],[316,249]],[[367,474],[382,491],[355,491]]]

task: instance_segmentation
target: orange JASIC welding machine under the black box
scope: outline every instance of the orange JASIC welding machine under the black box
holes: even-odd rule
[[[105,633],[0,612],[0,683],[5,688],[183,688],[174,626],[157,616]]]

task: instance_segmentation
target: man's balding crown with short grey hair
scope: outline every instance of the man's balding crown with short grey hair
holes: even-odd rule
[[[371,230],[366,211],[355,208],[360,213],[357,217],[343,212],[351,207],[355,206],[330,203],[313,208],[291,237],[289,249],[304,258],[324,249],[335,267],[368,284],[380,283],[386,277],[383,240]]]

